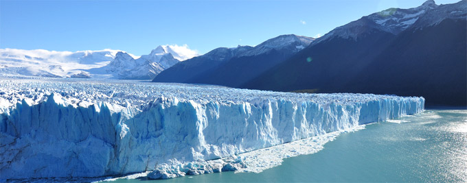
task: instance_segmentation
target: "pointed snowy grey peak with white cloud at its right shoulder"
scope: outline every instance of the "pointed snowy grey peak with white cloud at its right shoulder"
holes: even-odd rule
[[[133,58],[128,53],[119,52],[115,59],[105,69],[119,79],[151,80],[161,71],[176,63],[198,56],[196,51],[186,45],[161,45],[148,55]]]

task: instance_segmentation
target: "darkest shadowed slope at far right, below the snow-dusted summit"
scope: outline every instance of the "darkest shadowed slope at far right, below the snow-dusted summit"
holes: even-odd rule
[[[466,27],[465,19],[445,19],[432,27],[407,29],[367,66],[367,73],[358,75],[361,82],[354,82],[353,90],[418,95],[428,105],[467,106]]]

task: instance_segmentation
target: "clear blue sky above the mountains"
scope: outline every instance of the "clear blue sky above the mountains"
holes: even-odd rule
[[[216,47],[258,45],[282,34],[315,37],[373,12],[423,2],[0,0],[0,48],[109,48],[143,55],[158,45],[186,44],[206,53]]]

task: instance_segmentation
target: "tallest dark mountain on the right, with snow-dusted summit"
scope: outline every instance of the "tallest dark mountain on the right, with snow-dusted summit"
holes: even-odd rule
[[[466,106],[466,24],[466,0],[377,12],[239,87],[423,96],[429,105]]]

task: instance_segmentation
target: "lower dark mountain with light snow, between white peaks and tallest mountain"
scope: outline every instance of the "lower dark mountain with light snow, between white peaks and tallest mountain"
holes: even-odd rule
[[[308,47],[315,38],[277,36],[255,47],[217,48],[203,56],[175,64],[153,82],[182,82],[238,86]]]

